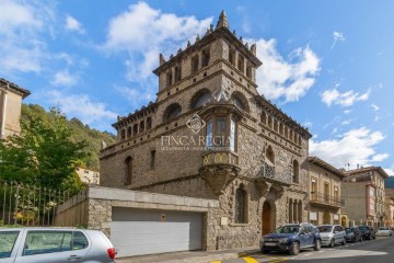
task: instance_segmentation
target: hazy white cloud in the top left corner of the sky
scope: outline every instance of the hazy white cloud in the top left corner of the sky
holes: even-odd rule
[[[54,21],[51,3],[2,0],[0,10],[0,71],[39,72],[48,57],[42,33]]]

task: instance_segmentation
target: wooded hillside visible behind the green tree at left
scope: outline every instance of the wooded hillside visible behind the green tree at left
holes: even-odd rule
[[[49,114],[49,112],[45,111],[42,106],[36,104],[23,104],[22,118],[28,122],[34,117],[39,117],[43,122],[53,121],[53,116]],[[73,130],[71,135],[72,141],[77,142],[85,140],[88,142],[88,146],[85,147],[88,157],[81,160],[82,167],[89,170],[99,171],[99,153],[101,149],[101,142],[104,140],[107,146],[112,145],[115,142],[115,136],[106,132],[102,133],[100,130],[92,129],[89,127],[89,125],[84,125],[78,118],[71,118],[70,121],[67,121],[67,125]]]

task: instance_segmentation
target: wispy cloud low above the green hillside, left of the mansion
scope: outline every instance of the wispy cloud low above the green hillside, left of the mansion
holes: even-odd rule
[[[101,102],[93,102],[86,94],[65,94],[59,91],[49,91],[48,101],[60,106],[67,116],[74,116],[83,123],[99,129],[108,129],[118,114],[108,111]]]

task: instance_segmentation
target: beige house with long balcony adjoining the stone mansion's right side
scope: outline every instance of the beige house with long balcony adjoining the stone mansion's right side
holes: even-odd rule
[[[341,180],[346,174],[317,157],[309,157],[309,221],[314,225],[347,225],[341,216],[344,206],[340,193]]]

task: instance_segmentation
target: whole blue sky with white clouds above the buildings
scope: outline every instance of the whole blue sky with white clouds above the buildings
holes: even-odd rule
[[[311,155],[394,174],[394,1],[0,0],[0,77],[25,103],[114,133],[155,100],[159,53],[194,43],[225,10],[257,44],[258,91],[309,127]]]

